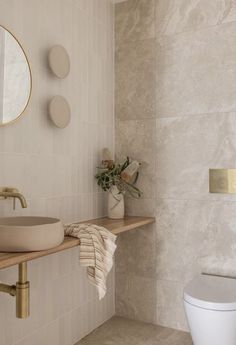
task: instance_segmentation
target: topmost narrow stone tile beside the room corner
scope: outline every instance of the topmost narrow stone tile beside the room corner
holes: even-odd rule
[[[155,0],[128,0],[115,6],[116,42],[155,36]]]

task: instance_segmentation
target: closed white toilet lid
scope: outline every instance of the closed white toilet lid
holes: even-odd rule
[[[236,279],[201,275],[184,289],[184,300],[210,310],[236,310]]]

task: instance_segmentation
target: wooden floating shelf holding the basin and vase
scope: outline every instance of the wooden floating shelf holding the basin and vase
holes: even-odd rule
[[[91,223],[104,226],[113,234],[118,235],[126,231],[137,229],[147,224],[152,224],[154,222],[155,218],[153,217],[125,217],[124,219],[118,220],[109,218],[91,219],[81,223]],[[60,246],[49,250],[25,253],[0,253],[0,269],[11,267],[22,262],[31,261],[42,256],[47,256],[66,249],[77,247],[79,246],[79,244],[79,239],[66,236],[64,242]]]

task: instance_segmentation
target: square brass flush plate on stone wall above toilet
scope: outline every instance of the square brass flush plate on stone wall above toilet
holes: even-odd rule
[[[236,169],[210,169],[210,193],[236,194]]]

